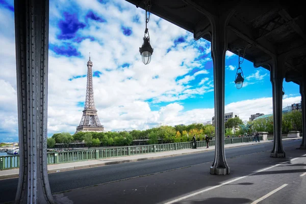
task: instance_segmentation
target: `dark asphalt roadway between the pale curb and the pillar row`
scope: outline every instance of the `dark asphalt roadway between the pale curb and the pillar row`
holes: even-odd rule
[[[288,140],[283,141],[283,145],[286,150],[286,147],[298,145],[300,142],[301,140]],[[272,143],[263,143],[260,145],[225,149],[225,154],[226,158],[233,158],[271,150]],[[52,193],[55,193],[212,162],[213,158],[214,151],[211,151],[199,154],[49,173],[49,183]],[[0,203],[14,200],[17,184],[18,179],[0,180]]]

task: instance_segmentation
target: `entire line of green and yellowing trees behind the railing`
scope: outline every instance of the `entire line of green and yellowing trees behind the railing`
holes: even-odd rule
[[[302,113],[293,111],[283,114],[283,133],[292,130],[302,130]],[[268,132],[273,134],[272,116],[243,122],[239,117],[228,119],[225,123],[225,136],[250,135],[252,132]],[[87,147],[111,147],[130,145],[133,140],[148,139],[149,144],[173,143],[191,141],[193,135],[197,140],[203,140],[206,135],[213,137],[213,125],[191,124],[172,126],[159,126],[147,130],[132,130],[131,132],[78,132],[71,135],[68,132],[55,133],[47,139],[47,147],[53,148],[56,143],[66,147],[72,142],[85,142]]]

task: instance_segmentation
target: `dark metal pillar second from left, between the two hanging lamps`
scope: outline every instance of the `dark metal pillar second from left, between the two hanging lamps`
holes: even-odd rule
[[[211,18],[212,59],[214,63],[215,94],[215,158],[210,167],[211,174],[230,173],[224,152],[224,90],[225,90],[225,52],[227,50],[226,25],[232,15]]]

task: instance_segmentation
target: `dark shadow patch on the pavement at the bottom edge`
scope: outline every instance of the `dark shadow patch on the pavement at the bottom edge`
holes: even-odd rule
[[[179,201],[178,204],[244,204],[251,203],[248,198],[211,197],[202,200]]]

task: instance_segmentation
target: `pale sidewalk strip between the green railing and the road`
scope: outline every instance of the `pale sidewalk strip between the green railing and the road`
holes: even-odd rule
[[[294,140],[301,139],[299,138],[284,138],[285,140]],[[273,140],[265,140],[260,142],[242,142],[242,143],[234,143],[234,144],[225,144],[225,149],[227,148],[236,148],[243,147],[248,145],[258,145],[262,143],[273,142]],[[158,159],[186,154],[195,154],[201,152],[208,152],[215,150],[215,146],[206,149],[205,147],[197,148],[197,149],[184,149],[184,150],[175,150],[175,151],[167,151],[167,152],[159,152],[159,153],[148,153],[142,155],[132,155],[132,156],[124,156],[124,157],[112,157],[108,159],[97,159],[97,160],[88,160],[88,161],[80,161],[80,162],[70,162],[70,163],[62,163],[62,164],[49,164],[48,165],[48,173],[59,172],[59,171],[67,171],[74,169],[82,169],[82,168],[91,168],[97,166],[104,166],[110,164],[120,164],[126,162],[135,162],[142,161],[148,159]],[[0,170],[0,180],[2,179],[10,179],[10,178],[18,178],[19,177],[19,168],[8,169],[8,170]]]

